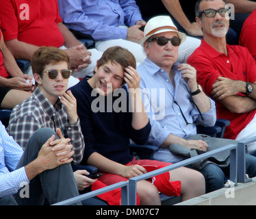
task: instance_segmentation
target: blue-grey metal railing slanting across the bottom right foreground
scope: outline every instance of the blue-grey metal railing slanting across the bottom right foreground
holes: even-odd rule
[[[256,140],[256,138],[255,138],[255,140]],[[247,143],[248,142],[246,142],[246,144]],[[174,170],[174,169],[180,168],[182,166],[187,166],[189,164],[193,164],[194,162],[198,162],[199,160],[205,159],[207,157],[212,157],[212,155],[216,155],[217,153],[222,153],[223,151],[230,151],[230,180],[233,181],[233,183],[236,185],[238,183],[238,159],[240,159],[239,157],[244,157],[244,155],[239,155],[239,157],[238,157],[238,145],[229,144],[227,146],[223,146],[220,149],[216,149],[213,151],[209,151],[207,153],[203,153],[201,155],[197,155],[196,157],[191,157],[191,158],[185,159],[176,164],[172,164],[172,165],[166,166],[164,168],[159,168],[157,170],[147,172],[146,174],[140,175],[138,177],[133,177],[133,178],[129,179],[129,181],[126,181],[126,182],[122,181],[120,183],[108,185],[105,188],[101,188],[99,190],[88,192],[86,194],[81,194],[74,198],[69,198],[66,201],[62,201],[60,203],[55,203],[54,205],[71,205],[78,201],[82,201],[87,198],[91,198],[93,196],[97,196],[99,194],[109,192],[116,188],[121,188],[122,205],[136,205],[136,191],[137,191],[136,183],[138,181],[141,181],[144,179],[149,179],[156,175],[160,175],[164,172],[168,172],[170,170]],[[245,161],[244,161],[244,164],[245,164]],[[242,172],[240,172],[240,174],[242,174]]]

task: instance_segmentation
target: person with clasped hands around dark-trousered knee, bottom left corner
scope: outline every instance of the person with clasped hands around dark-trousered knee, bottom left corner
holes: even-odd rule
[[[40,129],[23,152],[0,123],[0,205],[44,205],[45,198],[54,204],[78,196],[69,142],[60,129]]]

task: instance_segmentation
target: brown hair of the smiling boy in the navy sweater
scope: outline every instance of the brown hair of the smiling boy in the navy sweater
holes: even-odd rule
[[[131,66],[136,68],[136,58],[134,55],[127,49],[123,47],[110,47],[104,51],[101,58],[97,61],[97,68],[103,66],[107,62],[118,63],[125,71],[125,68]]]

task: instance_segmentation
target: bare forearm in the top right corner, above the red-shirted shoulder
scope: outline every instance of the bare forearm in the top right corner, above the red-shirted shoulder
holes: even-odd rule
[[[256,2],[248,0],[226,0],[235,6],[235,13],[251,13],[256,8]]]

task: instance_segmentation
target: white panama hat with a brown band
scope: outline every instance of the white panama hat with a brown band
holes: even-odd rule
[[[144,38],[142,38],[139,43],[144,47],[144,42],[151,36],[170,31],[177,32],[179,38],[181,38],[181,43],[185,41],[185,34],[178,31],[170,16],[155,16],[146,23]]]

